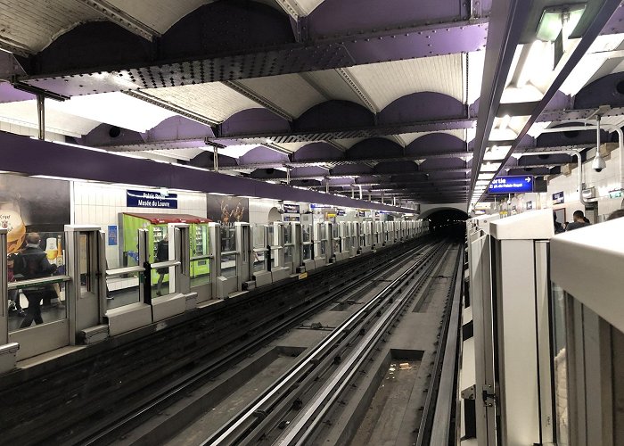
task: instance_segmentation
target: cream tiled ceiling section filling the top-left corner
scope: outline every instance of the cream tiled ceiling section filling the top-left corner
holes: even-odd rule
[[[76,25],[102,16],[75,0],[0,0],[0,37],[38,53]]]

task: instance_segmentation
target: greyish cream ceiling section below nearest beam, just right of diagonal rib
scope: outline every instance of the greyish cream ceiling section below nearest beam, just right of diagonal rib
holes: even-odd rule
[[[267,99],[296,118],[317,103],[325,101],[314,87],[299,74],[283,74],[266,78],[250,78],[239,81],[251,91]]]

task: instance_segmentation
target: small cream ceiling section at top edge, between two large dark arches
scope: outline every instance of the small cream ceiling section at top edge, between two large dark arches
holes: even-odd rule
[[[127,12],[160,34],[165,33],[189,12],[212,0],[108,0],[121,11]]]

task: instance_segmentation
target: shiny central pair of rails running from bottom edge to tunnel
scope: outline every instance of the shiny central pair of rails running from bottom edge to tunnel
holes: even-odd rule
[[[390,326],[439,267],[448,245],[436,244],[382,292],[233,417],[203,445],[310,444],[353,377]]]

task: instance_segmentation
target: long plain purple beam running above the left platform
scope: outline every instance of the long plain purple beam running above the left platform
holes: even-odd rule
[[[109,183],[168,187],[219,194],[249,195],[274,200],[318,202],[382,211],[406,211],[380,203],[319,194],[249,178],[233,177],[203,169],[130,158],[114,153],[57,145],[26,136],[0,132],[0,169],[27,175],[81,178]],[[24,162],[29,160],[29,162]]]

